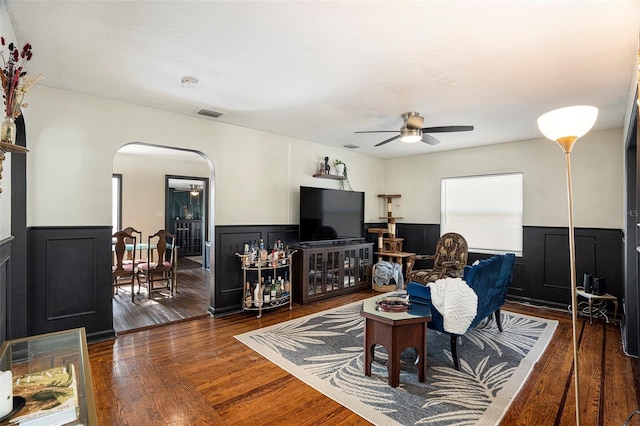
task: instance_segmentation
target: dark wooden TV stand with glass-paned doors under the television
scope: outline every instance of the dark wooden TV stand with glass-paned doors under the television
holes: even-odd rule
[[[373,243],[299,247],[295,302],[309,303],[371,285]]]

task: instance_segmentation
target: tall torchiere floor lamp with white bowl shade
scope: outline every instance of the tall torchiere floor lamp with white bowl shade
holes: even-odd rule
[[[584,136],[598,117],[596,107],[579,105],[549,111],[538,118],[538,128],[547,138],[558,142],[567,164],[567,195],[569,200],[569,264],[571,266],[571,322],[573,324],[573,377],[576,391],[576,424],[580,426],[580,392],[578,370],[578,296],[576,293],[576,252],[573,231],[573,194],[571,191],[571,149]]]

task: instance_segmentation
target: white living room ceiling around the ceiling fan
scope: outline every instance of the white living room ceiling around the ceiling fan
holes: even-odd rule
[[[637,78],[640,0],[6,4],[42,85],[382,158],[540,138],[537,117],[574,104],[620,128]],[[408,111],[475,130],[378,148],[392,134],[353,133]]]

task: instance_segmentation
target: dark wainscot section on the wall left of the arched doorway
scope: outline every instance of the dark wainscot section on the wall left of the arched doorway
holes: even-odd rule
[[[32,227],[28,334],[84,327],[87,340],[115,336],[111,227]]]

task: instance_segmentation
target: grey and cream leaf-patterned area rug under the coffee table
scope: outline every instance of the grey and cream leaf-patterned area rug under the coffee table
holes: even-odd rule
[[[371,377],[363,373],[361,306],[356,302],[235,337],[376,425],[495,425],[557,326],[503,311],[503,333],[487,321],[461,339],[460,371],[453,366],[449,336],[429,330],[426,381],[417,381],[415,351],[407,349],[394,389],[382,346],[376,347]]]

